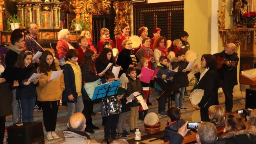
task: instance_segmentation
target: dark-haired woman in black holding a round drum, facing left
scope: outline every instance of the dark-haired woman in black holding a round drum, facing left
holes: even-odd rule
[[[201,58],[201,66],[205,68],[204,72],[200,74],[198,65],[194,66],[194,74],[198,79],[198,88],[204,90],[204,96],[198,105],[200,109],[201,121],[210,121],[208,108],[212,105],[219,105],[218,101],[218,71],[215,57],[211,54],[204,54]]]

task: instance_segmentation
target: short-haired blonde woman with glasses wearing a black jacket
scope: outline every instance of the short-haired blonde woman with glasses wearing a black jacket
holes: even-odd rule
[[[139,59],[137,56],[132,52],[132,42],[130,40],[124,40],[122,42],[122,47],[124,50],[119,53],[118,58],[116,60],[116,64],[118,66],[122,66],[122,70],[120,74],[127,71],[130,67],[137,67]]]

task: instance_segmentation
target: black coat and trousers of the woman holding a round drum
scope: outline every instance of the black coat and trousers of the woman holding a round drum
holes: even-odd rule
[[[195,74],[199,80],[200,72]],[[201,108],[201,120],[209,121],[208,108],[212,105],[219,105],[218,101],[218,72],[210,68],[198,83],[198,88],[204,90],[204,96],[198,106]]]

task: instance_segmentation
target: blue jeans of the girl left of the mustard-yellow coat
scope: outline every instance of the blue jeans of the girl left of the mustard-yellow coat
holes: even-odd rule
[[[35,107],[36,97],[23,98],[18,100],[20,107],[20,122],[33,122],[34,121],[34,107]]]

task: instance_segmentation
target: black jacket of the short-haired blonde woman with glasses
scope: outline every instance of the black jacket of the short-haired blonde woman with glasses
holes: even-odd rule
[[[129,68],[129,65],[132,64],[132,58],[130,55],[134,55],[136,57],[137,63],[139,62],[139,59],[137,56],[132,52],[132,50],[124,49],[120,54],[118,55],[118,58],[116,60],[116,64],[118,66],[122,66],[123,70],[120,70],[119,74],[122,74],[124,72],[127,72],[127,69]]]

